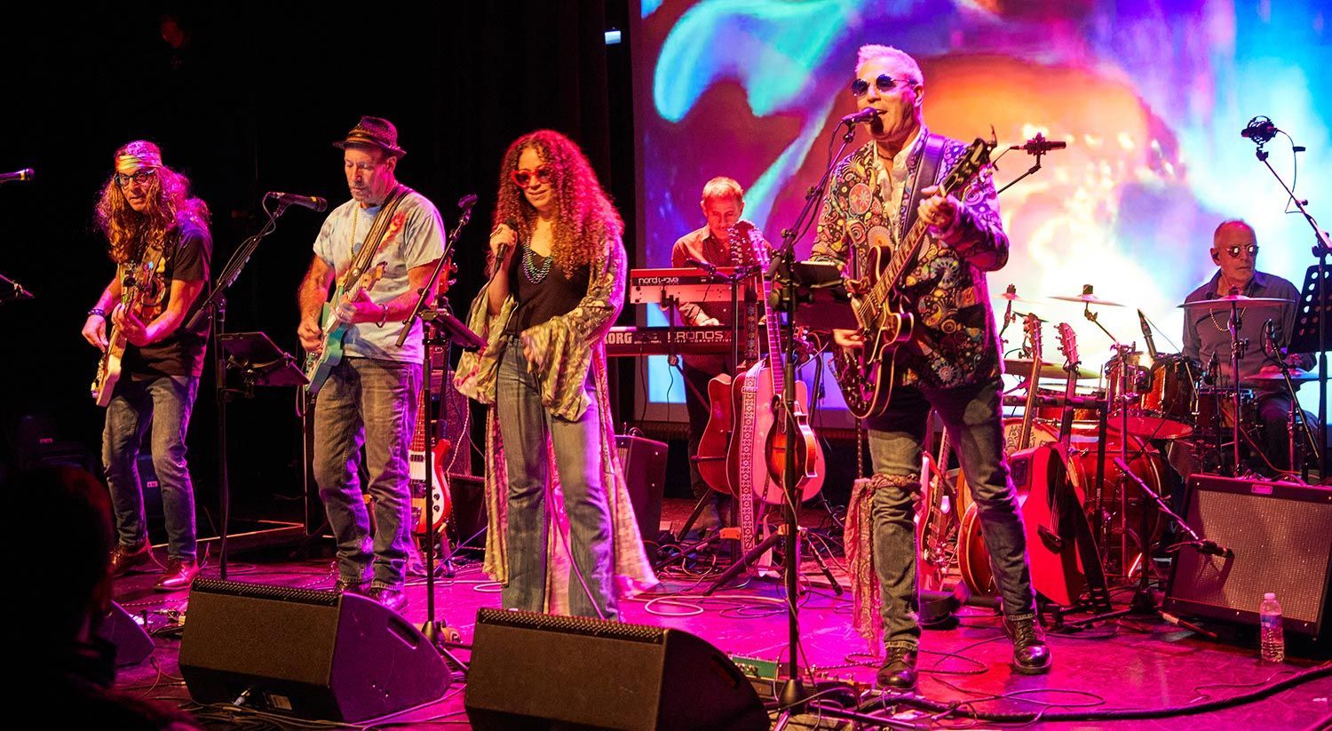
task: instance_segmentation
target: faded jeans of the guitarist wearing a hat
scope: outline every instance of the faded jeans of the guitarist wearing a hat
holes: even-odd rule
[[[421,364],[345,357],[314,402],[314,481],[337,541],[338,578],[365,583],[370,518],[361,491],[361,446],[374,506],[372,587],[401,589],[410,547],[408,447]]]

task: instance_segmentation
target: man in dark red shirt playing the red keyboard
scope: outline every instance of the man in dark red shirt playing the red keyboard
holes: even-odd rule
[[[745,221],[745,189],[729,177],[714,177],[703,185],[699,201],[707,225],[686,233],[675,241],[671,249],[671,266],[698,266],[707,262],[714,266],[735,266],[754,261],[753,245],[763,246],[771,253],[773,246],[763,238],[763,232]],[[681,302],[679,320],[682,326],[730,326],[731,306],[725,302]],[[734,333],[733,337],[741,337]],[[722,373],[731,373],[726,356],[685,356],[685,406],[689,410],[689,454],[698,454],[698,442],[707,427],[709,403],[707,383]],[[690,461],[690,486],[694,499],[711,495],[694,527],[710,531],[721,527],[721,494],[711,490],[698,474],[698,465]]]

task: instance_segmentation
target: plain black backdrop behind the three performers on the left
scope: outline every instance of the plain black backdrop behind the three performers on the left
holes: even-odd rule
[[[433,200],[446,226],[458,198],[480,196],[450,293],[465,312],[482,284],[500,158],[521,133],[577,140],[635,230],[627,12],[614,0],[9,11],[0,170],[37,177],[0,186],[0,273],[36,298],[0,305],[0,467],[29,461],[40,439],[100,463],[103,410],[87,394],[96,352],[80,329],[113,272],[92,208],[119,145],[157,141],[193,180],[213,212],[216,274],[262,224],[265,190],[348,200],[330,144],[361,115],[388,117],[408,150],[400,180]],[[186,39],[178,48],[164,40],[176,28]],[[607,47],[607,28],[625,43]],[[264,330],[298,353],[294,292],[322,220],[301,208],[280,220],[230,292],[228,330]],[[209,366],[189,431],[205,507],[216,497],[213,382]],[[294,411],[290,389],[229,407],[237,503],[300,497]]]

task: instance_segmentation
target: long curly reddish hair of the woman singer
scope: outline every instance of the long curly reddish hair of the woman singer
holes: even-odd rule
[[[610,242],[621,240],[625,222],[610,202],[610,196],[601,189],[597,173],[593,172],[582,149],[553,129],[530,132],[509,145],[500,165],[500,196],[496,202],[494,225],[515,222],[519,241],[527,240],[535,228],[537,209],[527,202],[522,189],[509,178],[509,173],[518,169],[518,157],[527,148],[537,150],[553,174],[557,216],[550,253],[565,270],[565,276],[571,277],[575,266],[605,262]]]

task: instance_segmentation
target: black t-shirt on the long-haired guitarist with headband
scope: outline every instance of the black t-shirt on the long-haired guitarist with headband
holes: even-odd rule
[[[209,258],[213,256],[213,237],[208,229],[185,221],[169,234],[174,238],[174,245],[166,246],[165,262],[163,265],[163,301],[157,312],[165,312],[170,305],[170,284],[174,280],[196,282],[209,280]],[[185,320],[174,333],[165,340],[152,345],[125,348],[123,367],[131,375],[198,375],[204,371],[204,350],[208,348],[209,318],[201,317],[193,330],[186,330],[185,324],[194,316],[198,306],[208,297],[208,285],[204,292],[194,298]],[[145,321],[144,325],[148,322]]]

